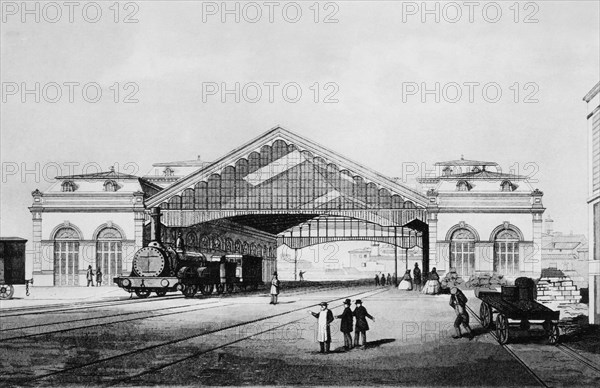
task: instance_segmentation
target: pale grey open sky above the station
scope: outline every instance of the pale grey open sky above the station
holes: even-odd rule
[[[27,4],[2,2],[2,236],[31,238],[56,175],[215,160],[276,125],[406,182],[496,161],[587,234],[598,1]]]

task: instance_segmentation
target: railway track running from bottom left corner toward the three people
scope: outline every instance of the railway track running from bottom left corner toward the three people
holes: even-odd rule
[[[353,297],[357,297],[359,295],[361,298],[368,298],[369,296],[376,295],[378,293],[382,293],[387,290],[388,290],[387,288],[386,289],[378,288],[376,290],[372,290],[372,289],[365,290],[365,291],[353,293],[350,295],[336,297],[335,299],[330,300],[329,302],[330,303],[334,303],[336,301],[341,302],[345,298],[353,298]],[[56,385],[61,385],[62,383],[73,383],[73,382],[77,381],[80,376],[98,375],[98,373],[101,374],[101,372],[98,372],[98,371],[101,370],[103,366],[112,370],[110,368],[111,362],[116,361],[116,362],[120,362],[120,363],[125,363],[125,361],[123,361],[123,360],[127,360],[130,358],[132,358],[133,360],[137,360],[140,358],[144,359],[146,357],[148,359],[153,360],[152,366],[149,366],[150,364],[148,364],[148,365],[143,364],[144,366],[142,367],[141,370],[138,369],[135,371],[135,373],[128,374],[127,376],[117,376],[115,378],[114,374],[108,375],[107,378],[109,380],[102,382],[104,385],[122,385],[123,383],[126,383],[128,381],[135,380],[139,376],[155,373],[161,369],[168,368],[172,365],[176,365],[176,364],[185,362],[185,361],[187,361],[189,359],[193,359],[195,357],[200,357],[204,354],[214,352],[218,349],[222,349],[224,347],[245,341],[247,339],[250,339],[252,337],[255,337],[255,336],[263,334],[263,333],[277,330],[278,328],[284,327],[286,325],[291,325],[295,322],[299,322],[300,320],[304,320],[307,318],[306,318],[306,316],[303,316],[302,318],[299,318],[299,319],[295,318],[291,321],[287,321],[280,325],[268,327],[267,329],[261,330],[260,332],[253,332],[250,335],[241,336],[239,338],[235,338],[234,340],[226,340],[225,343],[219,343],[214,346],[208,346],[199,351],[187,350],[187,354],[181,354],[182,347],[184,349],[190,349],[190,348],[195,349],[194,346],[192,346],[194,344],[194,341],[196,341],[196,343],[195,343],[196,345],[200,344],[200,346],[205,346],[205,344],[208,343],[208,341],[207,341],[208,338],[214,339],[212,337],[213,335],[217,335],[217,337],[216,337],[217,340],[221,338],[221,337],[219,337],[219,335],[222,337],[228,338],[228,335],[230,336],[232,332],[236,333],[236,330],[239,333],[240,328],[259,324],[261,322],[265,323],[271,319],[285,317],[285,316],[297,313],[299,311],[303,311],[308,308],[315,307],[317,305],[318,304],[316,304],[316,303],[309,304],[309,305],[303,305],[302,307],[295,308],[295,309],[292,309],[289,311],[284,311],[284,312],[280,312],[280,313],[276,313],[276,314],[269,314],[267,316],[262,316],[262,317],[252,319],[252,320],[247,320],[247,321],[243,321],[243,322],[239,322],[239,323],[233,323],[233,324],[229,324],[226,326],[217,327],[214,329],[204,330],[200,333],[194,333],[194,334],[176,338],[173,340],[163,341],[160,343],[155,343],[153,345],[143,346],[141,348],[132,349],[132,350],[128,350],[128,351],[123,351],[118,354],[98,358],[98,359],[95,359],[90,362],[83,362],[78,365],[74,365],[74,366],[67,367],[67,368],[62,368],[60,370],[54,370],[54,371],[51,371],[48,373],[43,373],[43,374],[31,377],[31,378],[24,378],[24,379],[9,381],[8,383],[17,384],[17,385],[33,384],[33,385],[56,386]],[[341,303],[340,303],[340,305],[341,305]],[[237,336],[234,336],[234,337],[237,337]],[[179,347],[179,348],[177,348],[177,347]],[[177,349],[177,351],[169,351],[169,348],[171,348],[171,350]],[[156,352],[155,354],[160,354],[160,356],[155,357],[155,358],[150,357],[153,354],[153,352]],[[164,359],[164,361],[163,361],[163,359]],[[160,360],[161,362],[158,362],[158,360]],[[135,365],[136,363],[132,362],[129,364]],[[83,380],[78,381],[78,382],[84,383]],[[85,381],[85,384],[89,384],[89,383],[90,383],[89,381]]]

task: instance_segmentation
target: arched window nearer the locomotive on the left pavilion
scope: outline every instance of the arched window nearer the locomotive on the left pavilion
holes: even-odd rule
[[[97,275],[98,269],[102,272],[102,285],[110,286],[115,276],[121,276],[123,270],[123,236],[116,228],[104,228],[98,233],[96,240],[96,266],[94,273]],[[96,281],[97,279],[94,279]]]

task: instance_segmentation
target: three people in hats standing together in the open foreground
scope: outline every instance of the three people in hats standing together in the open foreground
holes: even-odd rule
[[[375,321],[375,318],[368,313],[367,309],[362,305],[362,301],[357,299],[354,301],[356,307],[354,310],[350,308],[351,301],[344,301],[344,311],[336,316],[341,319],[340,331],[344,334],[344,349],[350,350],[353,347],[360,346],[360,337],[362,337],[362,346],[367,345],[367,331],[369,323],[367,318]],[[317,318],[317,342],[319,342],[321,353],[329,353],[331,346],[331,330],[330,325],[334,321],[333,313],[329,310],[327,302],[321,302],[321,311],[315,313],[309,311],[313,317]],[[354,323],[356,319],[356,323]],[[352,342],[352,331],[354,329],[354,342]]]

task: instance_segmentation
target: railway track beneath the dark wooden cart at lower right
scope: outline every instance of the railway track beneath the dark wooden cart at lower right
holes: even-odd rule
[[[477,313],[475,313],[475,311],[473,311],[468,305],[466,306],[467,310],[469,311],[470,315],[473,316],[480,324],[482,324],[482,320],[479,317],[479,315],[477,315]],[[490,334],[490,336],[492,336],[492,338],[494,338],[494,340],[498,341],[498,337],[496,336],[496,333],[494,333],[493,331],[489,331],[488,334]],[[523,368],[525,368],[525,370],[527,370],[527,372],[529,372],[529,374],[537,381],[537,383],[542,386],[542,387],[553,387],[555,386],[555,384],[550,380],[550,378],[541,376],[543,373],[541,372],[536,372],[534,371],[529,364],[526,362],[526,360],[524,360],[523,357],[519,356],[519,349],[517,349],[515,346],[511,345],[511,344],[500,344],[500,346],[506,350],[506,352],[508,354],[511,355],[511,357],[513,357]],[[586,357],[580,355],[577,353],[577,351],[575,351],[573,348],[571,348],[568,345],[565,344],[557,344],[554,346],[551,345],[547,345],[548,347],[545,348],[546,354],[545,357],[553,357],[551,354],[555,351],[560,352],[563,355],[566,355],[569,360],[571,361],[575,361],[575,363],[577,365],[579,365],[581,368],[583,369],[589,369],[591,370],[593,373],[595,373],[597,375],[597,377],[600,379],[600,367],[594,363],[592,360],[587,359]],[[564,364],[563,364],[564,365]]]

